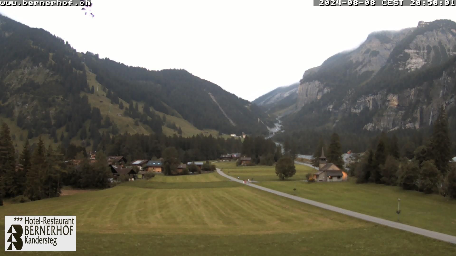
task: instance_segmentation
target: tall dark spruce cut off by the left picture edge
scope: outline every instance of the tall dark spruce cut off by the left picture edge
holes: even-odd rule
[[[3,123],[0,131],[0,174],[2,183],[0,193],[8,197],[16,196],[18,193],[15,154],[10,128],[6,123]]]

